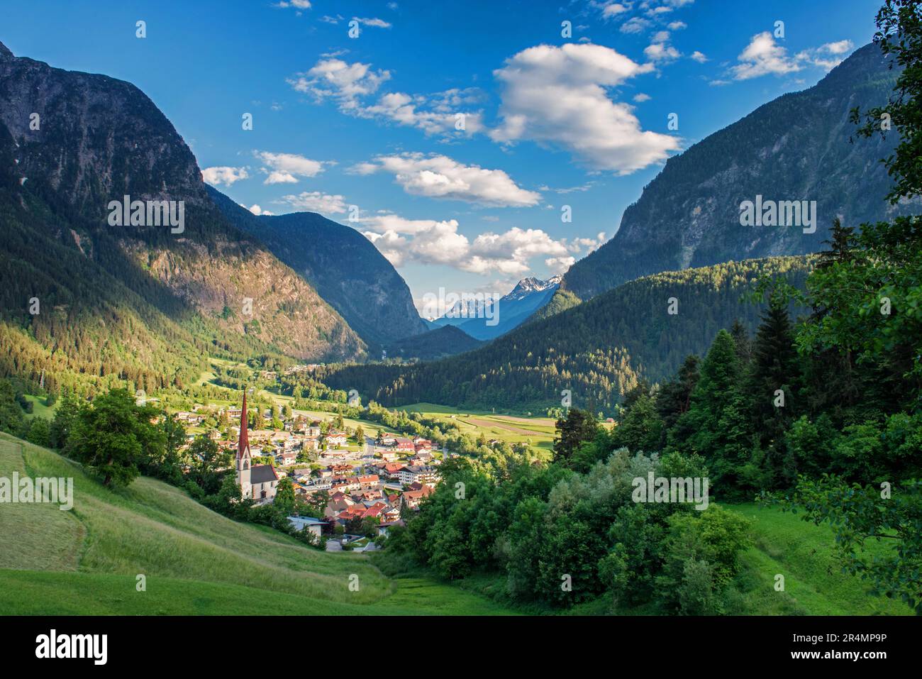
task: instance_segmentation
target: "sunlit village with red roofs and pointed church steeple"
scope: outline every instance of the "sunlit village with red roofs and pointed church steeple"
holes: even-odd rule
[[[431,441],[378,429],[367,435],[349,429],[342,416],[313,419],[290,409],[257,409],[255,421],[241,407],[217,412],[194,408],[176,413],[183,425],[199,426],[208,418],[231,424],[206,435],[230,453],[244,498],[255,505],[272,503],[278,482],[290,478],[295,494],[317,516],[291,516],[295,530],[307,530],[326,550],[372,551],[388,530],[404,525],[408,512],[432,493],[440,481],[438,467],[451,454],[433,451]],[[189,435],[192,438],[192,435]],[[322,511],[321,511],[322,510]]]

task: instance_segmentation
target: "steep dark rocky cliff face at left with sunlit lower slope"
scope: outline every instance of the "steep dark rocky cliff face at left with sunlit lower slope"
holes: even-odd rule
[[[14,143],[18,184],[47,207],[42,236],[117,261],[111,272],[129,288],[162,309],[178,298],[218,333],[308,360],[364,355],[342,316],[215,206],[195,156],[135,86],[17,58],[0,44],[0,125]],[[182,231],[149,218],[113,226],[110,202],[124,196],[174,209],[183,201]]]

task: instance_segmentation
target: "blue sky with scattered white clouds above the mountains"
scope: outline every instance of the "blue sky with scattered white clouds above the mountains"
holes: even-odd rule
[[[358,229],[420,300],[565,270],[669,156],[869,42],[879,5],[31,0],[0,41],[135,83],[209,182]]]

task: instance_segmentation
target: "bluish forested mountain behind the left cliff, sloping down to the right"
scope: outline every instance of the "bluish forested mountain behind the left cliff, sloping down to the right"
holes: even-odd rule
[[[257,217],[217,189],[209,186],[208,193],[235,226],[301,274],[368,344],[427,329],[407,282],[360,232],[313,212]]]

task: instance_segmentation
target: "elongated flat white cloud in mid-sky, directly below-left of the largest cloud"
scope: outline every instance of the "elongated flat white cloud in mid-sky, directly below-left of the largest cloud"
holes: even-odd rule
[[[408,194],[496,208],[527,208],[537,205],[540,194],[516,185],[502,170],[487,170],[479,165],[464,165],[447,156],[404,153],[378,156],[373,162],[356,165],[353,172],[391,173]]]

